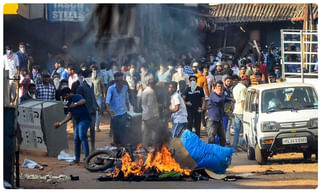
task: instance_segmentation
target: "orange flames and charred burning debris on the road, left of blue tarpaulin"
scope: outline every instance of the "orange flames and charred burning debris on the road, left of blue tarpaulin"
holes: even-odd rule
[[[165,145],[154,150],[139,144],[133,152],[124,148],[120,151],[109,157],[114,160],[113,166],[105,170],[106,175],[99,181],[181,180],[191,175],[191,169],[181,168]]]

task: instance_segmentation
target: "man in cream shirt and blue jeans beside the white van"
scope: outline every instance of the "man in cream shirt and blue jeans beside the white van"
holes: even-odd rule
[[[235,133],[233,137],[233,148],[237,149],[239,134],[243,130],[243,111],[244,103],[247,96],[247,87],[249,85],[249,77],[242,75],[241,82],[238,83],[232,90],[233,97],[235,99],[235,105],[233,114],[235,117]],[[240,140],[240,144],[243,144],[243,140]]]

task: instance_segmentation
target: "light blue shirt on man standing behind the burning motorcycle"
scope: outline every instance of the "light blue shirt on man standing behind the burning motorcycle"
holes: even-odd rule
[[[122,85],[120,93],[117,91],[116,83],[108,88],[106,103],[110,105],[110,109],[114,111],[115,116],[125,114],[127,103],[129,103],[128,86]]]

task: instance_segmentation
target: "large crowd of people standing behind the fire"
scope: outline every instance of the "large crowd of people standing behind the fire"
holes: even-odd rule
[[[99,64],[77,63],[68,54],[57,55],[50,57],[42,72],[24,43],[17,52],[8,46],[5,51],[4,68],[9,71],[10,83],[18,81],[16,102],[68,101],[66,119],[54,126],[73,119],[76,161],[81,143],[85,156],[89,154],[88,130],[91,150],[95,149],[95,132],[100,131],[103,112],[111,118],[110,136],[115,145],[124,144],[127,115],[134,111],[142,114],[144,146],[161,143],[157,136],[166,134],[168,122],[172,122],[172,137],[184,129],[200,137],[203,126],[208,143],[238,149],[243,144],[238,140],[247,87],[281,80],[280,68],[274,59],[268,60],[270,56],[237,58],[210,46],[204,54],[193,55],[191,50],[161,62],[144,54],[127,57],[126,62],[111,56]]]

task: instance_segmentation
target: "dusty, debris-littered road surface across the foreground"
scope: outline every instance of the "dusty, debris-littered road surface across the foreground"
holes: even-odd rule
[[[68,130],[69,152],[73,151],[72,130]],[[96,134],[96,146],[103,147],[111,142],[108,125]],[[205,133],[203,139],[206,141]],[[305,162],[303,155],[288,153],[269,159],[267,165],[258,165],[247,160],[246,152],[237,152],[232,156],[232,163],[227,175],[241,175],[242,178],[229,181],[209,179],[208,181],[98,181],[103,172],[89,172],[83,164],[71,165],[55,157],[39,157],[21,154],[20,164],[25,158],[46,164],[43,170],[21,168],[21,174],[27,175],[76,175],[78,181],[66,179],[59,182],[40,179],[21,179],[21,188],[25,189],[314,189],[318,186],[318,161],[315,156]]]

